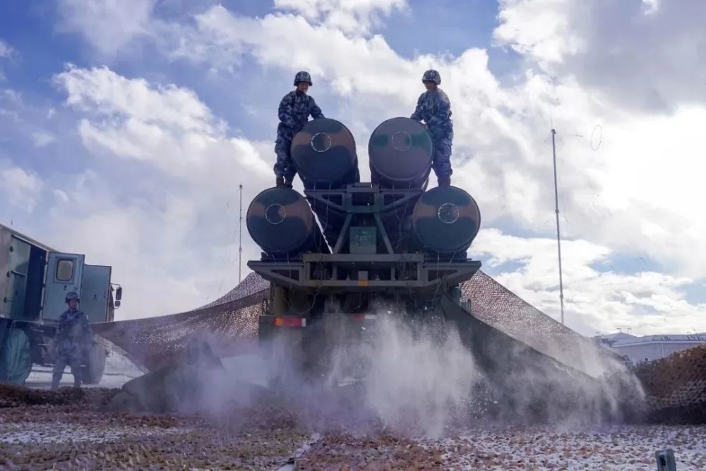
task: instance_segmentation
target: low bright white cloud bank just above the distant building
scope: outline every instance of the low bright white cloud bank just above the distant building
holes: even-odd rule
[[[690,278],[664,273],[633,275],[599,271],[611,250],[585,240],[564,241],[562,268],[565,320],[585,335],[632,328],[633,334],[706,330],[706,304],[690,304],[684,289]],[[496,279],[533,306],[560,318],[556,239],[513,237],[486,229],[474,253],[489,267],[513,262],[517,269]]]

